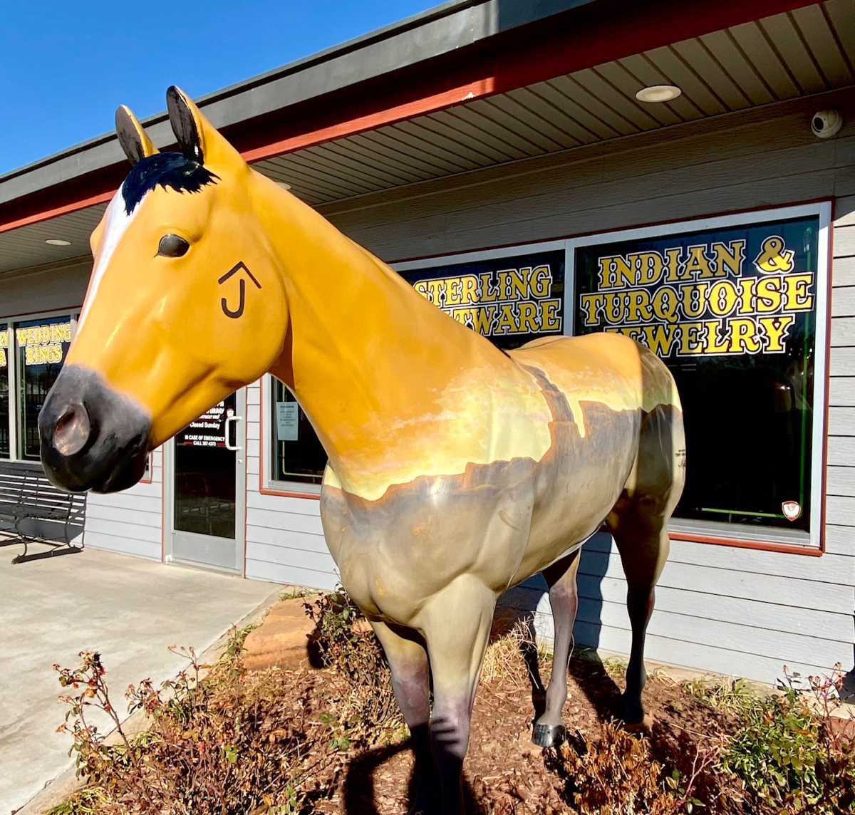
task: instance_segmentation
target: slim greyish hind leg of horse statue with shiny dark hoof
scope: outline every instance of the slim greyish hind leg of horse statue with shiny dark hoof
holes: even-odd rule
[[[532,741],[538,747],[558,747],[567,737],[561,713],[564,702],[567,701],[567,665],[573,650],[573,624],[579,608],[579,594],[576,589],[578,570],[579,550],[543,570],[546,585],[549,587],[555,639],[545,710],[534,723],[532,730]]]

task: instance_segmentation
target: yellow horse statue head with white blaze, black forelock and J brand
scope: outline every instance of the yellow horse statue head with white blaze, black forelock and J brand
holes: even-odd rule
[[[259,212],[290,195],[184,93],[167,99],[180,151],[157,151],[116,111],[133,168],[91,235],[77,332],[38,418],[44,469],[75,492],[139,481],[151,449],[270,369],[288,330]]]

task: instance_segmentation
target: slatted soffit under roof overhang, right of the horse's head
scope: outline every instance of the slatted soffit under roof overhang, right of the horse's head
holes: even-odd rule
[[[310,204],[855,84],[855,3],[828,0],[258,162]],[[681,96],[642,103],[641,88]]]

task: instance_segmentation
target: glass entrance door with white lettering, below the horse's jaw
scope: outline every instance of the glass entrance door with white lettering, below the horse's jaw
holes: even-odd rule
[[[243,569],[245,391],[233,393],[172,442],[172,558]]]

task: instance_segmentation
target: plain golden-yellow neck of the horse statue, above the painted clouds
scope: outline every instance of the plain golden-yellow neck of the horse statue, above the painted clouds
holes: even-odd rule
[[[268,239],[290,316],[285,351],[270,372],[291,388],[345,482],[354,461],[371,467],[388,455],[379,445],[394,443],[391,428],[417,428],[426,412],[439,411],[441,394],[468,370],[492,374],[512,363],[321,215],[282,195],[257,208],[272,219]]]

